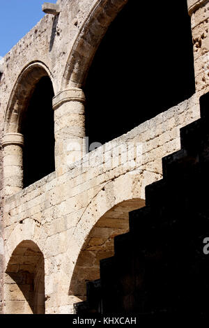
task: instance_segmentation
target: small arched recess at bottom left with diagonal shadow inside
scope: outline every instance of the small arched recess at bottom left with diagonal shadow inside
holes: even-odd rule
[[[7,314],[45,313],[45,263],[33,241],[22,241],[15,248],[5,283]]]

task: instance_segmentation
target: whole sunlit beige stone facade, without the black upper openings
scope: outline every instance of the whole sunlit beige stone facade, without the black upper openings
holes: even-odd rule
[[[145,187],[162,179],[162,157],[180,149],[180,128],[199,119],[199,97],[209,91],[209,2],[187,2],[196,93],[88,154],[82,87],[127,0],[58,0],[59,15],[45,15],[3,58],[1,313],[73,313],[100,260],[113,255],[114,237],[127,232],[128,212],[144,207]],[[55,94],[56,170],[23,188],[22,116],[43,76]]]

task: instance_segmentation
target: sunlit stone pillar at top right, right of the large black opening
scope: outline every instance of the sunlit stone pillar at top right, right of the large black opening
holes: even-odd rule
[[[209,91],[209,0],[187,0],[194,45],[194,73],[199,96]]]

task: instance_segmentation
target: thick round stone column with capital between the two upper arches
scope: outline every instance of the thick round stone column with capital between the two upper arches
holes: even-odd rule
[[[85,96],[82,89],[63,90],[53,98],[55,167],[58,175],[86,153]]]

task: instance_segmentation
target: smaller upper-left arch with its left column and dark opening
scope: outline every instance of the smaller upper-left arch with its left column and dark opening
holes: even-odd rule
[[[47,83],[44,84],[45,82]],[[37,90],[39,93],[45,91],[40,85],[46,87],[46,98],[37,96]],[[29,64],[17,78],[3,124],[3,185],[6,197],[18,193],[22,188],[54,171],[54,112],[50,112],[53,94],[52,74],[42,62]],[[38,114],[33,110],[34,95],[34,99],[38,101],[35,108]],[[41,112],[42,104],[45,103],[46,110]],[[48,124],[45,128],[46,120]],[[40,140],[45,140],[45,143]],[[44,164],[38,161],[40,165],[34,170],[34,158],[42,158],[43,154]]]

